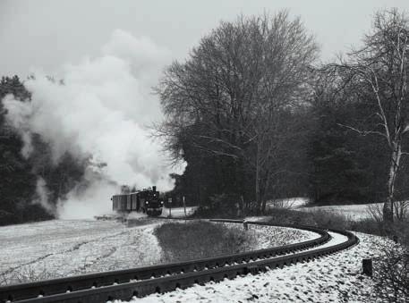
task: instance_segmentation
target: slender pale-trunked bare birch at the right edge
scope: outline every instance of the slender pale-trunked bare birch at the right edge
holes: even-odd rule
[[[370,102],[373,114],[366,122],[370,127],[346,126],[363,136],[377,135],[388,144],[390,166],[388,173],[388,198],[383,208],[386,221],[402,215],[396,209],[405,206],[396,203],[396,177],[401,165],[403,150],[409,132],[409,20],[396,9],[375,15],[371,34],[365,36],[364,46],[348,55],[348,60],[338,66],[349,88]],[[395,208],[395,209],[394,209]]]

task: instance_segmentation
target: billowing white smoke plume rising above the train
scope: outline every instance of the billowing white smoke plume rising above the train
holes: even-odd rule
[[[36,72],[24,83],[32,93],[30,102],[4,99],[6,118],[24,141],[21,153],[30,156],[31,134],[38,133],[50,144],[55,164],[66,152],[78,158],[92,155],[107,163],[102,173],[108,181],[172,189],[168,175],[181,173],[183,164],[169,167],[159,142],[149,139],[146,129],[161,117],[151,87],[168,62],[168,52],[149,38],[134,38],[117,29],[100,55],[64,65],[64,82]],[[88,181],[89,190],[72,190],[58,206],[60,217],[92,216],[110,209],[112,182]]]

